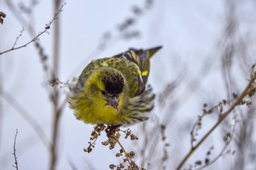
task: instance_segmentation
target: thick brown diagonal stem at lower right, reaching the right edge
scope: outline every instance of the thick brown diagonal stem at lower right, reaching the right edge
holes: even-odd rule
[[[255,65],[253,65],[253,69],[254,69]],[[254,91],[255,92],[255,79],[256,79],[256,73],[253,72],[251,74],[251,80],[249,81],[247,87],[245,87],[244,91],[241,93],[241,95],[239,95],[236,100],[234,101],[234,103],[232,103],[230,105],[230,108],[224,112],[218,122],[216,122],[216,124],[214,124],[214,126],[199,140],[199,142],[197,142],[197,144],[195,144],[195,146],[193,146],[191,148],[191,150],[189,151],[189,153],[187,153],[187,155],[183,158],[183,160],[181,161],[181,163],[178,165],[177,170],[181,169],[183,167],[183,165],[186,163],[186,161],[189,159],[189,157],[191,157],[191,155],[197,150],[197,148],[199,148],[199,146],[201,146],[201,144],[205,141],[206,138],[208,138],[210,136],[210,134],[212,134],[212,132],[214,132],[214,130],[216,130],[216,128],[223,122],[223,120],[225,120],[227,118],[227,116],[234,110],[234,108],[236,108],[236,106],[240,105],[243,102],[243,99],[245,99],[245,97],[247,95],[252,95],[251,93]],[[253,93],[254,95],[254,93]]]

